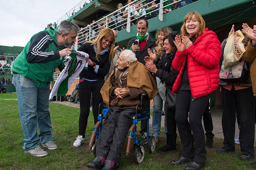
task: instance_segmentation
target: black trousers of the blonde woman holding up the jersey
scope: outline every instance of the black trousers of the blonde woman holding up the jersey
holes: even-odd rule
[[[80,81],[78,93],[80,100],[80,117],[79,117],[79,135],[82,135],[84,138],[84,133],[87,127],[87,120],[90,113],[90,99],[91,94],[93,94],[93,118],[94,124],[98,122],[98,111],[99,104],[102,103],[102,96],[100,94],[100,89],[104,84],[104,79],[97,81],[87,81],[83,79],[83,82]]]

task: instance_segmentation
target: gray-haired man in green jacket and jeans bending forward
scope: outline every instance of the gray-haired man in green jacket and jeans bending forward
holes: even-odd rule
[[[38,32],[13,62],[12,81],[17,91],[25,153],[46,156],[47,151],[38,142],[49,150],[57,148],[52,138],[49,86],[55,67],[62,63],[61,57],[71,54],[78,31],[76,24],[62,21],[58,30],[50,27]]]

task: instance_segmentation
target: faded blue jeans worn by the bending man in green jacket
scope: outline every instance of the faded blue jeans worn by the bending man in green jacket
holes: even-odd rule
[[[30,150],[41,143],[53,140],[49,112],[49,86],[38,88],[21,74],[13,74],[13,85],[17,91],[20,122],[24,134],[23,150]],[[39,134],[37,133],[39,129]]]

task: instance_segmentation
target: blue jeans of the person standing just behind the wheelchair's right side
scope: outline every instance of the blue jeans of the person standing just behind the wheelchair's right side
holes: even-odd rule
[[[153,108],[153,116],[152,116],[152,136],[159,137],[160,135],[160,128],[161,128],[161,119],[162,119],[162,109],[163,109],[163,99],[160,97],[160,95],[157,93],[157,95],[153,99],[154,102],[154,108]],[[166,113],[166,107],[164,108]],[[165,114],[165,121],[164,121],[164,133],[166,136],[166,114]]]

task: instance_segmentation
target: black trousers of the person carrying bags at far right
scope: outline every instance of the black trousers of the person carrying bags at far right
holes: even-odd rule
[[[224,135],[224,147],[227,150],[235,150],[235,124],[236,110],[240,113],[239,142],[243,154],[254,155],[254,123],[255,123],[255,97],[252,88],[231,91],[222,88],[222,129]]]

